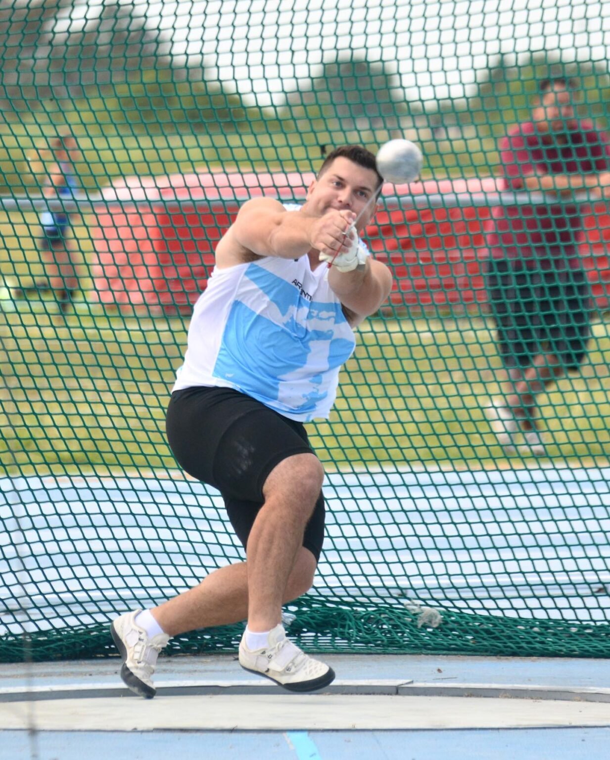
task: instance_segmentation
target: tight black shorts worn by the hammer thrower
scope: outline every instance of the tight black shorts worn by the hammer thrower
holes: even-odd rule
[[[192,477],[220,491],[244,548],[263,505],[263,486],[273,467],[294,454],[314,453],[302,423],[232,388],[174,391],[167,409],[166,432],[178,464]],[[316,562],[323,540],[324,497],[320,492],[303,537],[303,546]]]

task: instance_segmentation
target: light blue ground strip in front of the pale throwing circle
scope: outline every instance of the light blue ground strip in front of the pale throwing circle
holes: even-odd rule
[[[295,733],[305,732],[47,732],[36,744],[38,760],[603,760],[610,746],[608,728],[315,731],[305,736],[318,754],[299,755]],[[24,731],[0,731],[0,746],[2,760],[32,757]]]

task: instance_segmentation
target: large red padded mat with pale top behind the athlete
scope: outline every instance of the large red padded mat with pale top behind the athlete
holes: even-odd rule
[[[311,179],[313,175],[299,173],[193,174],[132,177],[106,188],[108,210],[97,214],[92,230],[97,296],[121,307],[190,313],[213,269],[216,245],[239,205],[261,195],[302,201]],[[442,197],[497,189],[493,178],[460,179],[385,185],[383,195]],[[226,209],[215,210],[214,201],[223,201]],[[458,309],[487,299],[482,264],[488,256],[485,235],[492,223],[491,209],[451,206],[451,201],[447,197],[447,207],[380,211],[368,226],[365,237],[371,251],[387,260],[395,274],[393,306]],[[586,241],[580,250],[596,306],[607,309],[608,207],[596,204],[584,224]]]

